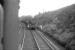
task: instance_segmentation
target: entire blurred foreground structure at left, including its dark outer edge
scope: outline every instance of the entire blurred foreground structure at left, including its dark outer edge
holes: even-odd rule
[[[18,9],[19,0],[0,0],[0,50],[18,50]]]

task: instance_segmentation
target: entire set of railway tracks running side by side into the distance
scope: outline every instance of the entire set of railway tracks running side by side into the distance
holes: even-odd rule
[[[64,50],[46,38],[42,32],[37,30],[25,30],[20,50]]]

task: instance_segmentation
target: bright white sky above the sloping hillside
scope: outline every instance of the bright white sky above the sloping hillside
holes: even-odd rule
[[[54,11],[71,4],[75,4],[75,0],[20,0],[19,17],[35,16],[39,12]]]

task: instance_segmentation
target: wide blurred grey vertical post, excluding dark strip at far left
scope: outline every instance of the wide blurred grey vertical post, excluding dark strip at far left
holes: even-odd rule
[[[18,6],[18,0],[5,0],[3,50],[18,50]]]

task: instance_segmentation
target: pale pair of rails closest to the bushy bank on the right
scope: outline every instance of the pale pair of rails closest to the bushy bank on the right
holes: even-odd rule
[[[46,44],[52,49],[52,50],[65,50],[65,48],[61,47],[55,41],[53,41],[51,38],[46,37],[42,32],[38,32],[39,36],[46,42]]]

